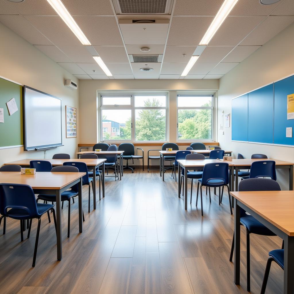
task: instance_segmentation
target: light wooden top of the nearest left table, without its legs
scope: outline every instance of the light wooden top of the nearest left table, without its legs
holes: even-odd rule
[[[60,190],[86,173],[37,172],[34,175],[22,175],[20,172],[0,172],[0,183],[26,184],[33,189]]]

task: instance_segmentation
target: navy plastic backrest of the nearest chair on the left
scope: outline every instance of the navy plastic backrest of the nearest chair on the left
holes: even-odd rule
[[[9,214],[10,208],[18,208],[18,213]],[[8,210],[8,211],[7,211]],[[6,216],[15,216],[16,219],[28,219],[39,216],[36,198],[29,185],[0,184],[0,213]]]

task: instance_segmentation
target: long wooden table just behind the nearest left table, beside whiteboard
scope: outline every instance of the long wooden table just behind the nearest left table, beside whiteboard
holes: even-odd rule
[[[84,162],[86,163],[87,167],[93,171],[93,184],[94,184],[94,194],[93,194],[93,208],[96,209],[96,168],[98,168],[99,166],[102,166],[102,197],[105,196],[105,191],[104,191],[104,162],[106,161],[106,159],[21,159],[21,160],[17,160],[17,161],[13,161],[13,162],[8,162],[8,163],[4,163],[4,165],[7,164],[18,164],[21,167],[28,167],[30,165],[30,161],[31,160],[46,160],[51,162],[52,166],[61,166],[63,165],[64,162],[68,162],[68,161],[75,161],[75,162]]]

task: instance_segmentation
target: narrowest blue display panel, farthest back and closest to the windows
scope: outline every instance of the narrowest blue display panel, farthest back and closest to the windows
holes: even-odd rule
[[[248,141],[248,94],[232,100],[232,140]]]

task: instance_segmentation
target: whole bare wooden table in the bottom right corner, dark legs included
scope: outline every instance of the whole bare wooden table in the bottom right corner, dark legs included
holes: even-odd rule
[[[231,194],[235,198],[235,284],[240,284],[240,208],[243,208],[284,240],[284,293],[293,294],[294,192],[258,191]]]

